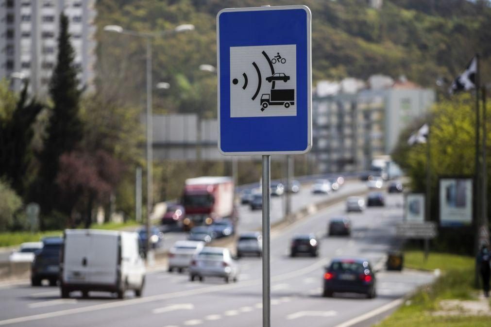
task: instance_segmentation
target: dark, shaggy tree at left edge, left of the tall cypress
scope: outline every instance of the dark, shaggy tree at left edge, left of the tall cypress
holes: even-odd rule
[[[35,98],[28,101],[27,83],[13,109],[8,107],[13,107],[15,96],[13,92],[8,95],[8,91],[1,91],[1,93],[5,92],[7,94],[4,98],[6,99],[3,107],[4,115],[0,118],[0,176],[11,184],[17,194],[24,196],[32,177],[29,174],[29,166],[34,157],[31,149],[34,137],[33,124],[43,110],[44,104]],[[8,99],[10,105],[7,103]]]

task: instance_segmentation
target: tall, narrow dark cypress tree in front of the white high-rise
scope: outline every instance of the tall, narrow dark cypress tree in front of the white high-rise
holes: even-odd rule
[[[44,213],[55,207],[56,198],[59,196],[55,178],[61,154],[73,151],[82,138],[83,126],[79,117],[81,91],[78,88],[74,58],[75,52],[70,44],[68,32],[68,18],[61,13],[57,63],[50,81],[53,108],[47,128],[48,136],[41,153],[39,182],[34,191]]]

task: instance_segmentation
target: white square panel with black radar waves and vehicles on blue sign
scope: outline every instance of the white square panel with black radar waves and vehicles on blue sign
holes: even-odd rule
[[[230,47],[230,117],[296,116],[297,47]]]

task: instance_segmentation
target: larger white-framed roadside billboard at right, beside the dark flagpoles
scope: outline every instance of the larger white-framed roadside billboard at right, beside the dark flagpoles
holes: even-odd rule
[[[472,190],[472,178],[440,178],[440,226],[468,226],[472,223]]]

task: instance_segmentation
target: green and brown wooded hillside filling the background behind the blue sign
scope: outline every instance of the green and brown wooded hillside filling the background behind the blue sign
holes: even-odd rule
[[[488,1],[391,0],[374,9],[367,0],[305,0],[312,11],[314,82],[372,74],[406,75],[434,87],[453,79],[475,52],[482,77],[491,82],[491,7]],[[139,31],[191,23],[196,30],[154,41],[156,112],[216,112],[216,76],[199,71],[216,65],[218,11],[225,7],[299,4],[289,0],[104,0],[97,1],[99,89],[115,101],[144,103],[145,48],[142,40],[102,31],[121,25]],[[446,89],[446,87],[445,87]]]

